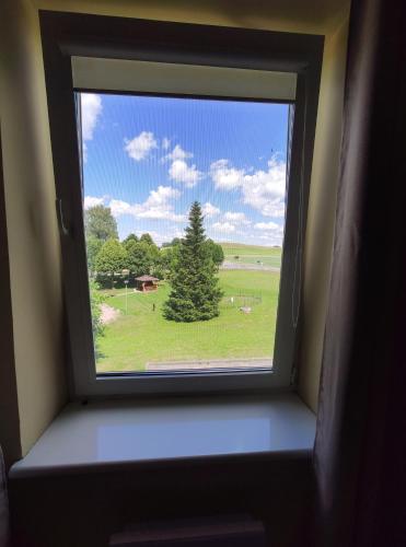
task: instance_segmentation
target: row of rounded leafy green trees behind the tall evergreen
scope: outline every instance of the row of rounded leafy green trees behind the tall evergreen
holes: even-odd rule
[[[202,221],[201,210],[200,217]],[[185,238],[175,237],[161,248],[149,233],[140,237],[131,233],[119,241],[117,222],[111,208],[103,205],[91,207],[84,213],[90,277],[104,288],[119,287],[125,280],[131,286],[135,278],[143,275],[172,281],[183,256],[187,230]],[[214,268],[218,268],[224,260],[221,245],[206,237],[200,243]]]

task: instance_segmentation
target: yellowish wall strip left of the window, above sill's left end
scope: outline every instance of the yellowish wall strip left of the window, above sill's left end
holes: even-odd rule
[[[37,12],[28,0],[3,0],[0,21],[4,202],[20,414],[14,435],[24,455],[67,397],[61,268]],[[10,396],[3,393],[8,389],[0,385],[1,399]]]

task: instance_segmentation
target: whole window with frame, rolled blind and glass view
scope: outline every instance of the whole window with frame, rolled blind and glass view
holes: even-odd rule
[[[83,45],[76,19],[42,16],[74,395],[288,388],[320,38],[186,54],[170,24],[151,51],[123,28],[167,24],[112,20],[107,45],[92,16]]]

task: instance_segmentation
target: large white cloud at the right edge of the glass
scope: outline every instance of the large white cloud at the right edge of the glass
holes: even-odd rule
[[[265,217],[285,217],[286,163],[276,156],[268,161],[267,171],[253,173],[234,168],[228,160],[218,160],[210,165],[210,175],[218,189],[240,188],[243,202]]]

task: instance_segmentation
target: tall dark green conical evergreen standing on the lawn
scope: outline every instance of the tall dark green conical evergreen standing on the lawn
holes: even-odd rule
[[[178,247],[178,258],[171,276],[172,290],[163,306],[166,319],[207,321],[219,315],[222,291],[218,288],[218,266],[206,245],[201,207],[195,201],[189,225]]]

